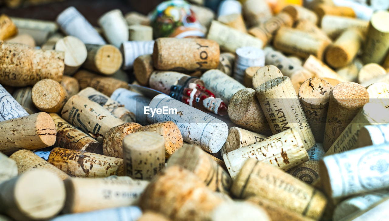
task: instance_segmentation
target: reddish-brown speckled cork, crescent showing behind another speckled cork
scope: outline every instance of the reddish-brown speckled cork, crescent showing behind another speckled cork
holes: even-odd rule
[[[141,127],[142,125],[138,123],[124,123],[109,129],[103,141],[104,155],[123,158],[124,137]]]

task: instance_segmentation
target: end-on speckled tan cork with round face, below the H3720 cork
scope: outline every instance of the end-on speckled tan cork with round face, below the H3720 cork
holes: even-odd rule
[[[65,88],[57,81],[43,79],[32,88],[31,99],[40,111],[58,113],[69,99]]]

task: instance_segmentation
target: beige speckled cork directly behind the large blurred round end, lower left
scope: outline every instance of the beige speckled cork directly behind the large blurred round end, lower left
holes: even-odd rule
[[[16,162],[18,165],[19,174],[26,173],[27,171],[35,170],[35,169],[45,169],[48,170],[61,180],[65,180],[69,178],[66,173],[63,173],[60,169],[53,166],[49,162],[40,158],[38,155],[34,154],[31,150],[19,150],[14,152],[10,157]]]

